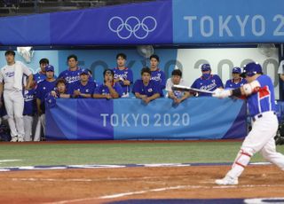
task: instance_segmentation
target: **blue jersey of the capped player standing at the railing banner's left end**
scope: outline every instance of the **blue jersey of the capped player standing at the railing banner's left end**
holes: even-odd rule
[[[55,90],[55,84],[56,80],[54,82],[47,82],[46,80],[44,80],[43,82],[40,82],[36,87],[36,98],[39,98],[41,100],[41,109],[43,111],[43,114],[45,112],[44,99],[46,95],[51,92],[51,90]]]

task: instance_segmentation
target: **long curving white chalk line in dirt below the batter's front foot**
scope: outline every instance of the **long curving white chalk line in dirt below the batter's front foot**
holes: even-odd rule
[[[164,192],[169,190],[180,190],[180,189],[238,189],[238,188],[256,188],[256,187],[284,187],[284,184],[244,184],[244,185],[213,185],[213,186],[204,186],[204,185],[177,185],[177,186],[170,186],[164,188],[154,188],[144,191],[137,191],[137,192],[120,192],[100,197],[91,197],[91,198],[84,198],[84,199],[75,199],[75,200],[61,200],[56,202],[48,202],[45,204],[65,204],[65,203],[72,203],[72,202],[83,202],[83,201],[90,201],[90,200],[106,200],[106,199],[117,199],[122,197],[127,197],[130,195],[138,195],[138,194],[145,194],[148,192]]]

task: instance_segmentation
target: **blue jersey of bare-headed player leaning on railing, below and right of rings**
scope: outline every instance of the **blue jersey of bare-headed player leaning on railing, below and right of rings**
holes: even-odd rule
[[[132,92],[134,94],[139,93],[141,95],[146,95],[147,97],[152,97],[155,93],[161,94],[161,87],[159,82],[150,80],[148,85],[144,85],[143,81],[138,79],[133,85]]]

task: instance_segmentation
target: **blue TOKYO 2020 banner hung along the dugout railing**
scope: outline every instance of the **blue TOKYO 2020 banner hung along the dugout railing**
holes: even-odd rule
[[[247,133],[246,105],[239,99],[169,98],[146,105],[136,98],[58,99],[46,111],[49,140],[220,139]]]

